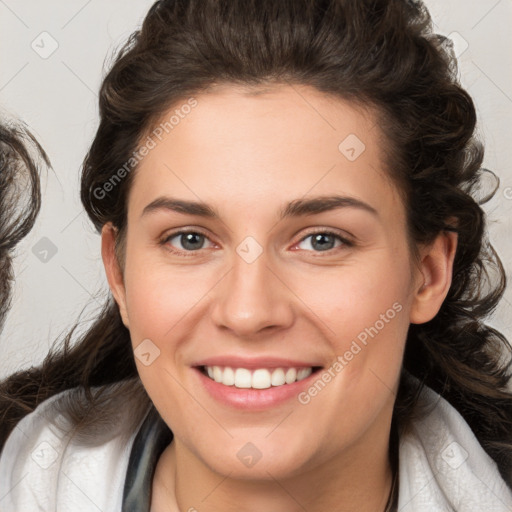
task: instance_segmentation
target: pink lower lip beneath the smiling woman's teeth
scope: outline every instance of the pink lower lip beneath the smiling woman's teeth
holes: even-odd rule
[[[296,398],[301,391],[311,384],[311,381],[317,377],[319,372],[317,370],[305,379],[292,384],[272,386],[267,389],[253,389],[225,386],[207,377],[199,368],[193,368],[193,370],[199,376],[206,391],[213,398],[230,407],[244,410],[268,409]]]

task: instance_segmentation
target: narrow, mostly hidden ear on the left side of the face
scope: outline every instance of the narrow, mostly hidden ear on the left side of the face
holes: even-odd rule
[[[119,266],[115,247],[118,231],[111,222],[103,225],[101,230],[101,257],[110,291],[119,307],[119,312],[124,325],[128,328],[128,312],[126,308],[126,291],[124,286],[123,272]]]

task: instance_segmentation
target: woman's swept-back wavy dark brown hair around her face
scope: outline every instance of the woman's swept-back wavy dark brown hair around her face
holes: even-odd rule
[[[455,231],[453,282],[438,315],[411,325],[395,419],[403,426],[424,384],[444,396],[512,481],[510,346],[485,325],[505,288],[499,258],[485,237],[472,194],[481,187],[483,147],[476,113],[457,81],[448,41],[432,32],[428,11],[412,0],[162,0],[119,51],[100,91],[100,124],[85,158],[83,205],[100,230],[112,222],[122,243],[136,166],[105,187],[164,112],[217,84],[304,84],[375,107],[389,142],[390,175],[408,212],[413,246]],[[126,169],[126,168],[125,168]],[[101,193],[98,193],[101,191]],[[456,220],[456,228],[453,220]],[[72,387],[120,383],[149,401],[139,382],[128,330],[112,298],[94,325],[40,368],[1,387],[2,437],[42,400]],[[416,377],[414,384],[408,376]],[[91,421],[72,400],[75,422]],[[104,408],[108,412],[108,407]],[[92,415],[94,416],[94,415]]]

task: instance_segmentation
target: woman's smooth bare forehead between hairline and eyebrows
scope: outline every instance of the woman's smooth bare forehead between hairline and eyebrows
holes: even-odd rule
[[[377,208],[396,202],[369,106],[299,85],[219,86],[189,100],[150,132],[156,144],[135,173],[131,209],[164,192],[268,208],[334,189]]]

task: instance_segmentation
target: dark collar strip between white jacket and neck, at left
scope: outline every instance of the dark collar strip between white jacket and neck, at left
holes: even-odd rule
[[[172,439],[171,430],[152,405],[133,441],[124,483],[122,512],[149,512],[156,465]]]

